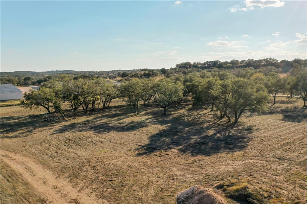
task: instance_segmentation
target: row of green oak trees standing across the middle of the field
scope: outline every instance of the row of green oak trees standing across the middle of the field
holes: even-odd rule
[[[272,69],[274,70],[274,69]],[[140,104],[156,104],[167,113],[170,105],[178,105],[191,97],[192,105],[218,111],[220,117],[237,123],[245,111],[262,112],[269,106],[269,95],[276,102],[278,93],[287,94],[289,100],[299,97],[306,107],[307,70],[293,70],[291,75],[280,77],[276,72],[263,73],[245,68],[236,72],[223,70],[202,70],[187,75],[172,77],[133,78],[115,85],[103,78],[50,80],[39,90],[24,94],[21,104],[25,108],[45,108],[65,118],[62,104],[69,104],[77,116],[77,110],[84,113],[95,108],[107,108],[111,101],[123,98],[139,114]]]

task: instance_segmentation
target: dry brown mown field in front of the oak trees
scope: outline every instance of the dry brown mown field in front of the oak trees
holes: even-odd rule
[[[175,203],[180,191],[244,181],[271,203],[306,203],[307,111],[301,100],[235,127],[187,102],[168,110],[121,100],[77,119],[1,108],[1,203]],[[229,198],[229,203],[235,203]]]

